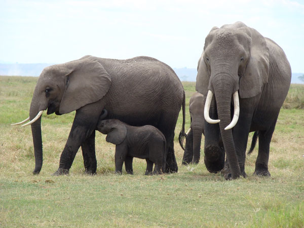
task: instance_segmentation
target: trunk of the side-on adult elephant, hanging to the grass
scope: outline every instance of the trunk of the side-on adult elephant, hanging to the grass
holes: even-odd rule
[[[29,109],[30,120],[33,120],[39,111],[40,111],[40,105],[37,103],[35,96],[33,96]],[[35,169],[33,171],[33,174],[39,174],[43,163],[41,117],[31,124],[31,131],[32,131],[34,156],[35,156]]]

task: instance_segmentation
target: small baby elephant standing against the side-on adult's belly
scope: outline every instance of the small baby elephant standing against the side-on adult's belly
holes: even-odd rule
[[[157,128],[151,125],[134,127],[112,119],[99,121],[97,130],[107,135],[107,142],[116,144],[116,173],[122,173],[125,162],[126,171],[133,174],[133,157],[146,160],[145,175],[161,174],[165,169],[166,138]],[[155,164],[154,171],[153,163]]]

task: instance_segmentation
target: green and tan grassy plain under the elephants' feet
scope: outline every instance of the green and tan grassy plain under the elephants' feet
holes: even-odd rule
[[[248,178],[225,181],[206,170],[203,158],[197,166],[180,165],[181,115],[175,131],[178,173],[144,176],[145,161],[134,159],[134,175],[115,175],[115,146],[96,133],[97,175],[84,174],[79,151],[69,175],[51,176],[72,112],[43,115],[44,165],[33,175],[30,127],[10,124],[28,117],[36,80],[0,77],[0,227],[304,227],[304,109],[298,109],[303,85],[291,86],[281,109],[271,143],[272,176],[252,175],[256,147],[246,159]],[[183,85],[187,130],[195,83]]]

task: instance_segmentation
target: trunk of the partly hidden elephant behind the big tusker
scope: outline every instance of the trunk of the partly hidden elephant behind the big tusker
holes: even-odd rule
[[[204,128],[203,117],[199,118],[199,120],[194,118],[191,126],[193,130],[193,163],[198,164],[200,161],[201,140]]]

